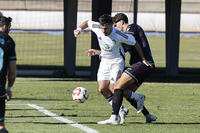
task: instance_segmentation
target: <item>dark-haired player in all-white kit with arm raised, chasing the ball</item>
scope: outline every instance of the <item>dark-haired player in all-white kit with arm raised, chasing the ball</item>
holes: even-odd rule
[[[141,55],[145,64],[147,66],[149,65],[149,62],[146,61],[141,48],[138,48],[135,38],[132,35],[123,33],[122,31],[114,28],[112,25],[112,17],[105,14],[99,18],[99,22],[85,21],[76,30],[74,30],[74,35],[77,36],[83,29],[89,27],[97,35],[101,49],[101,62],[97,74],[98,91],[111,105],[114,83],[121,76],[125,67],[125,53],[122,43],[131,46],[137,45],[138,53]],[[93,51],[87,51],[87,53],[89,56],[93,55]],[[123,123],[128,110],[121,106],[120,112],[120,123]]]

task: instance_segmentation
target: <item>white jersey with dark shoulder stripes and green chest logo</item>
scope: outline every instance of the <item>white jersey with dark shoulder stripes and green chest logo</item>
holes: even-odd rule
[[[97,35],[99,46],[101,48],[101,58],[113,60],[116,58],[124,58],[125,52],[122,43],[135,45],[136,41],[132,35],[126,34],[116,28],[112,28],[112,33],[105,36],[100,29],[100,24],[94,21],[88,21],[88,27]]]

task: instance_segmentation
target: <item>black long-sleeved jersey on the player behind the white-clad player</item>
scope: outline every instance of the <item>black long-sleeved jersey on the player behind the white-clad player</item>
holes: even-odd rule
[[[149,63],[151,63],[152,65],[154,65],[153,57],[149,47],[149,42],[146,38],[143,29],[137,24],[131,24],[127,27],[127,33],[132,34],[135,37],[135,40],[139,43],[146,60],[149,61]],[[125,51],[128,51],[131,55],[129,61],[130,65],[141,61],[141,57],[134,46],[125,46]]]

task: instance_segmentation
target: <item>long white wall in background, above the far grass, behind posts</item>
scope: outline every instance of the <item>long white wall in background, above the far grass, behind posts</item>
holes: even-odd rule
[[[13,18],[12,29],[24,30],[62,30],[62,11],[3,11],[5,16]],[[115,15],[116,13],[112,13]],[[133,14],[126,13],[129,22],[133,22]],[[85,20],[91,20],[90,12],[78,12],[80,25]],[[138,13],[138,24],[145,31],[165,31],[165,13]],[[181,32],[200,32],[200,14],[181,14]]]

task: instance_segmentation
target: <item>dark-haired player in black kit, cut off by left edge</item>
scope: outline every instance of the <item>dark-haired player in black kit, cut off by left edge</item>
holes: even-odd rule
[[[17,72],[15,42],[8,35],[11,21],[10,17],[0,16],[0,133],[8,133],[4,123],[5,102],[12,98],[12,86]]]

